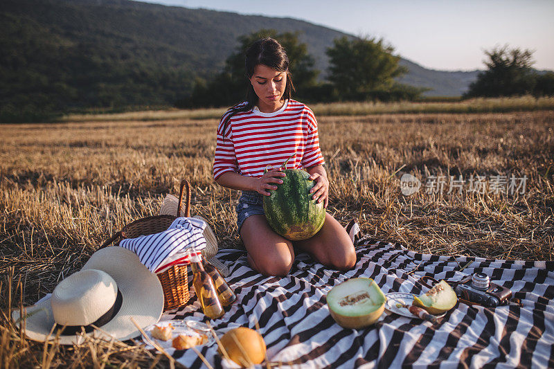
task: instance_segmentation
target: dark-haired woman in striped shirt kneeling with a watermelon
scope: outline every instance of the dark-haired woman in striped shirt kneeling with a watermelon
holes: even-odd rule
[[[226,188],[242,190],[236,208],[240,237],[253,269],[266,276],[286,276],[295,249],[306,251],[322,264],[352,269],[356,253],[345,229],[325,213],[321,230],[303,241],[289,241],[275,233],[264,215],[263,196],[276,190],[285,173],[278,168],[303,168],[315,182],[313,198],[327,208],[329,181],[323,168],[317,122],[312,111],[292,100],[289,60],[283,46],[270,37],[247,51],[247,101],[229,109],[217,128],[214,179]]]

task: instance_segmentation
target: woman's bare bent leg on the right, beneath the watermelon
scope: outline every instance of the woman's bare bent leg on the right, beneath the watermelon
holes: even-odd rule
[[[327,267],[346,271],[356,264],[356,251],[350,236],[328,213],[318,233],[308,240],[296,241],[295,245]]]

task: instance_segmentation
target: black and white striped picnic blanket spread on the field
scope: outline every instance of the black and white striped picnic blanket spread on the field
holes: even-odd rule
[[[554,262],[427,255],[362,239],[352,271],[326,269],[301,254],[289,276],[267,278],[249,267],[244,251],[224,250],[218,256],[231,269],[226,279],[238,302],[211,323],[222,333],[240,325],[255,329],[258,321],[271,363],[296,368],[554,368]],[[373,278],[385,294],[420,294],[427,290],[418,282],[422,276],[457,281],[477,271],[510,288],[522,307],[460,303],[435,325],[384,313],[375,325],[351,330],[334,322],[325,303],[328,291],[348,278]],[[163,318],[205,319],[194,295],[186,307]],[[216,344],[200,352],[215,368],[229,367]],[[193,350],[172,355],[189,368],[204,366]]]

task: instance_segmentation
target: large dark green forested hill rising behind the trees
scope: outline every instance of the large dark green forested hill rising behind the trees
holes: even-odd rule
[[[323,75],[325,49],[345,35],[296,19],[127,0],[2,0],[1,114],[172,105],[195,78],[221,70],[238,36],[261,28],[300,32]],[[427,94],[460,95],[471,80],[402,62],[411,72],[401,82],[435,90]]]

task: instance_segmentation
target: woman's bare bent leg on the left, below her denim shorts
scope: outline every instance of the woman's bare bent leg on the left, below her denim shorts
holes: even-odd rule
[[[286,276],[294,262],[292,242],[275,233],[265,215],[252,215],[240,227],[248,261],[265,276]]]

